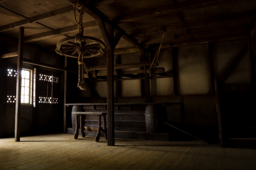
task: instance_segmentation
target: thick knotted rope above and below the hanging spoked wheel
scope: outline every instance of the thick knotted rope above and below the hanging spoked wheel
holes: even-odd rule
[[[83,37],[83,4],[78,0],[77,3],[71,3],[73,5],[73,11],[74,11],[74,18],[75,22],[77,23],[78,27],[77,30],[79,31],[78,34],[76,34],[75,41],[82,46],[82,43],[84,42]],[[79,22],[76,20],[76,9],[79,13]],[[79,52],[78,56],[78,83],[77,87],[81,90],[85,90],[85,83],[84,83],[84,70],[88,73],[85,64],[83,62],[83,52]]]

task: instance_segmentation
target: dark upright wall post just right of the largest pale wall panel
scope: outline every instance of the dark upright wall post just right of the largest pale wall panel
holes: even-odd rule
[[[215,94],[214,88],[214,74],[213,74],[213,43],[208,43],[208,63],[209,63],[209,74],[210,74],[210,86],[211,95]]]

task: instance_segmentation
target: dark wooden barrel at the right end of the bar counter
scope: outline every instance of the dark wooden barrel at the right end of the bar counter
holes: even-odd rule
[[[158,113],[156,105],[146,105],[145,124],[146,132],[156,133],[158,131]]]

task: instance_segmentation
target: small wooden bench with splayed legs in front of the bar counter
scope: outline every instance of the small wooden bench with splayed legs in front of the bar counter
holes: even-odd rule
[[[103,113],[103,112],[72,112],[72,114],[75,115],[75,121],[76,121],[76,130],[75,130],[75,134],[74,134],[74,139],[78,138],[78,134],[79,134],[79,123],[78,123],[78,121],[79,121],[79,119],[80,119],[81,135],[82,135],[82,137],[85,137],[85,133],[84,133],[83,128],[82,128],[82,126],[83,126],[82,115],[98,115],[98,129],[97,129],[97,134],[95,136],[95,141],[96,142],[99,141],[100,131],[104,133],[105,139],[107,140],[107,124],[106,124],[106,115],[107,115],[107,113]],[[104,129],[101,127],[101,116],[103,116]]]

